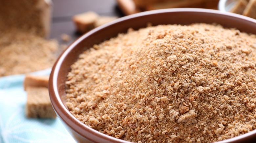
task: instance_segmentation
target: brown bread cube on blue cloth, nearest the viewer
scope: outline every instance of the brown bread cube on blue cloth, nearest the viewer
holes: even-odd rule
[[[28,118],[56,118],[47,87],[27,87],[26,116]]]

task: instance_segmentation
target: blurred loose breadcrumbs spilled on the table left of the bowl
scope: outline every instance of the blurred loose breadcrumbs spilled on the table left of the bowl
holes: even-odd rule
[[[56,40],[20,31],[0,36],[0,77],[51,68],[56,60]]]

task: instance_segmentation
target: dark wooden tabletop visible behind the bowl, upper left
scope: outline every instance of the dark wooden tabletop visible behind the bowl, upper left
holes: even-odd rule
[[[56,39],[60,44],[71,44],[81,36],[75,30],[72,16],[87,11],[94,11],[101,16],[124,16],[117,7],[115,0],[52,0],[52,25],[50,39]],[[67,34],[71,40],[64,42],[61,35]]]

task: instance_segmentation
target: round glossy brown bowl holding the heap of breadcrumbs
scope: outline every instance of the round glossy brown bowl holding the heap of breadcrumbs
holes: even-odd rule
[[[102,25],[81,36],[73,42],[58,58],[53,66],[49,80],[49,94],[53,108],[69,133],[77,142],[96,143],[128,143],[127,141],[102,134],[76,119],[66,108],[65,81],[70,66],[77,60],[78,55],[118,33],[125,33],[128,28],[139,29],[147,23],[158,24],[191,24],[218,23],[224,27],[237,28],[242,32],[256,34],[256,20],[233,13],[198,8],[174,8],[142,12],[119,18],[109,24]],[[256,130],[220,141],[219,143],[256,142]]]

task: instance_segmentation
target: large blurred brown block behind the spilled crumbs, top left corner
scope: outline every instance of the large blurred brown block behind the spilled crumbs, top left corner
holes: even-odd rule
[[[10,29],[47,38],[51,24],[51,0],[1,0],[0,32]]]

